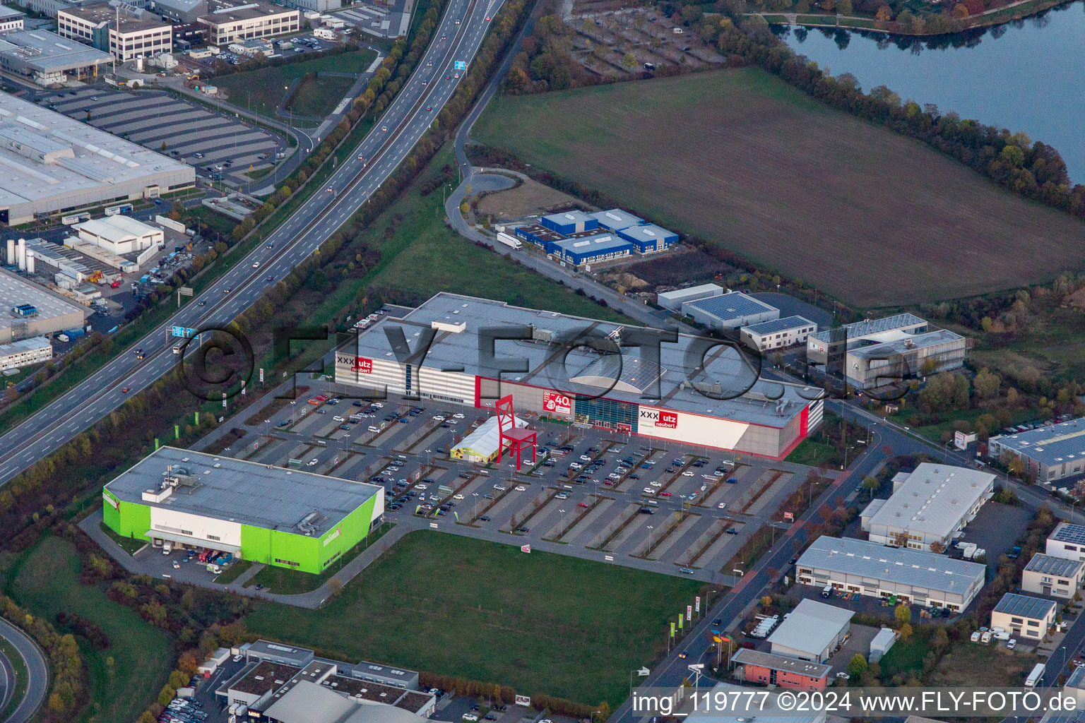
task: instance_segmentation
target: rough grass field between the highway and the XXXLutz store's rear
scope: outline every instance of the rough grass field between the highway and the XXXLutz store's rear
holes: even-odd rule
[[[451,146],[442,149],[419,179],[433,176],[446,163],[455,165]],[[386,233],[387,230],[391,232]],[[371,286],[381,286],[422,298],[441,291],[455,292],[592,319],[628,321],[465,241],[445,223],[441,189],[423,196],[416,182],[362,237],[381,249],[380,262],[366,276],[341,282],[314,310],[312,319],[328,319],[343,308],[345,299],[362,295]]]

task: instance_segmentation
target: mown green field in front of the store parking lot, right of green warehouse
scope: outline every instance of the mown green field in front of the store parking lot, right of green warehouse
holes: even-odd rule
[[[561,584],[554,584],[561,581]],[[699,583],[418,531],[320,611],[256,603],[250,631],[346,660],[616,707]]]

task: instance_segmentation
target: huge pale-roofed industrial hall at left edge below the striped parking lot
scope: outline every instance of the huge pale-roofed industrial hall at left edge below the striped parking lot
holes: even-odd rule
[[[0,93],[0,223],[191,188],[195,169]]]

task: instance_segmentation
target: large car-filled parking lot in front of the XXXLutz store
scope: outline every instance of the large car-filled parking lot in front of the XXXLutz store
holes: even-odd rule
[[[301,384],[301,383],[299,383]],[[730,581],[724,567],[776,519],[806,468],[608,429],[534,421],[537,464],[477,465],[449,450],[488,413],[433,400],[370,402],[319,380],[225,453],[382,485],[387,516],[410,527],[518,544],[669,574]],[[331,397],[331,398],[329,398]],[[551,548],[548,546],[548,550]]]

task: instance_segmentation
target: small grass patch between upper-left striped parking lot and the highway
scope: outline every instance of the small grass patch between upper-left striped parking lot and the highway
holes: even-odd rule
[[[215,78],[215,85],[227,92],[230,102],[234,105],[240,105],[243,108],[248,107],[261,116],[273,118],[276,117],[275,109],[279,107],[279,103],[282,102],[282,99],[286,94],[286,87],[295,79],[302,78],[308,73],[361,73],[369,67],[374,57],[376,57],[376,51],[365,48],[349,53],[316,57],[303,63],[291,63],[278,67],[264,67],[256,70],[225,75],[220,78]],[[337,88],[342,85],[339,82],[341,80],[349,80],[349,78],[320,78],[320,82],[332,90],[334,90],[333,86]],[[298,90],[302,91],[310,83],[302,83]],[[296,102],[302,103],[302,107],[296,113],[301,115],[326,115],[335,107],[336,103],[343,100],[343,94],[346,93],[346,89],[349,87],[350,82],[347,82],[342,92],[336,91],[334,96],[331,96],[331,90],[329,90],[330,96],[323,99],[316,91],[323,91],[324,89],[314,86],[312,92],[305,91],[305,98],[308,100],[297,99]],[[305,112],[303,112],[303,107]],[[318,113],[323,107],[327,107],[327,109],[323,113]],[[309,111],[312,111],[312,113],[309,113]]]

